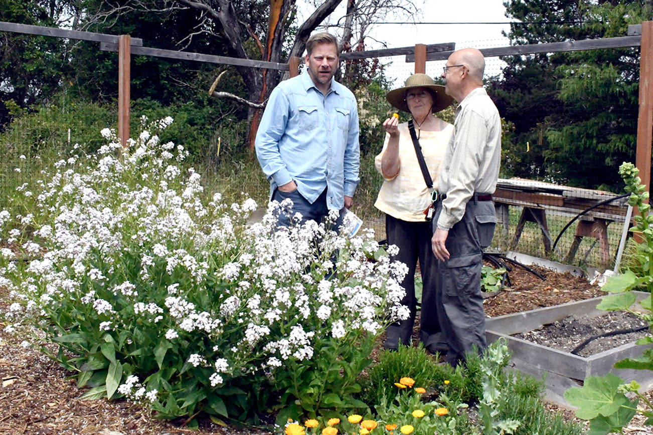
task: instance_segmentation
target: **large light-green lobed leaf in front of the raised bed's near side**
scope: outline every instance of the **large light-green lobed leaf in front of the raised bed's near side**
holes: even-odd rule
[[[597,415],[611,415],[620,406],[628,402],[623,393],[618,393],[619,385],[624,383],[621,378],[608,373],[603,377],[588,376],[582,387],[574,387],[565,391],[565,399],[577,406],[576,416],[590,420]]]

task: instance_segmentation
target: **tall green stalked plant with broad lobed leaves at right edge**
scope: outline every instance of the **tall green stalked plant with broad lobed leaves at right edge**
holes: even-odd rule
[[[641,243],[631,253],[629,269],[622,275],[610,277],[602,290],[613,293],[603,298],[597,305],[601,310],[628,311],[646,320],[649,330],[653,327],[652,303],[650,294],[639,303],[647,312],[635,311],[631,307],[636,301],[632,290],[653,288],[653,216],[650,215],[648,205],[648,192],[644,185],[641,185],[639,170],[631,163],[624,162],[619,167],[621,175],[626,184],[626,192],[629,192],[629,205],[637,207],[639,215],[635,216],[635,226],[630,228],[631,232],[641,237]],[[640,338],[637,344],[653,344],[653,336],[647,335]],[[614,364],[614,368],[631,368],[637,370],[653,370],[653,348],[643,350],[639,358],[627,358]],[[565,391],[565,398],[571,404],[577,406],[577,417],[590,421],[590,433],[607,434],[610,432],[622,431],[629,421],[638,412],[637,404],[639,399],[644,400],[650,409],[653,406],[639,393],[640,385],[637,382],[624,383],[620,377],[614,374],[605,376],[588,376],[581,388],[571,388]],[[634,399],[631,397],[635,396]],[[641,411],[648,417],[646,425],[653,425],[653,412]]]

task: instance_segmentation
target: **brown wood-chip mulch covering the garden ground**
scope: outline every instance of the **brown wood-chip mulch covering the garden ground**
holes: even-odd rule
[[[513,286],[485,301],[486,314],[499,316],[539,307],[579,301],[603,294],[583,278],[534,267],[547,278],[541,280],[518,267],[510,273]],[[6,293],[0,293],[0,311],[7,308]],[[219,427],[201,421],[199,430],[179,422],[159,421],[153,415],[124,401],[86,401],[84,391],[56,362],[39,350],[22,346],[24,337],[2,331],[0,323],[0,434],[99,434],[99,435],[261,435],[254,428]],[[34,339],[30,339],[34,342]],[[551,412],[573,413],[549,406]],[[644,434],[634,429],[633,434]]]

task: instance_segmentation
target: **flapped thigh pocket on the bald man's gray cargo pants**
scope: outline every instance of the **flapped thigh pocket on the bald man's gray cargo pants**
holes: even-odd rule
[[[483,254],[450,258],[445,265],[444,291],[447,296],[464,298],[481,292]]]

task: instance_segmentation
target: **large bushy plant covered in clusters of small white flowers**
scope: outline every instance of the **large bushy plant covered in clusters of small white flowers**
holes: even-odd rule
[[[140,400],[163,418],[364,406],[356,379],[385,325],[407,316],[406,266],[370,231],[278,230],[287,203],[248,224],[253,200],[204,192],[183,147],[160,143],[171,122],[144,119],[126,149],[103,130],[97,153],[22,186],[22,215],[0,212],[8,327],[44,329],[86,397]]]

